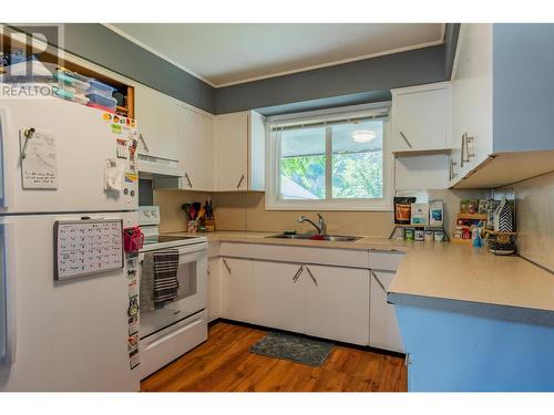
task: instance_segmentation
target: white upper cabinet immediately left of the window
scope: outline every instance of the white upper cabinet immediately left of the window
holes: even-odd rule
[[[215,118],[215,190],[264,190],[265,125],[248,111]]]

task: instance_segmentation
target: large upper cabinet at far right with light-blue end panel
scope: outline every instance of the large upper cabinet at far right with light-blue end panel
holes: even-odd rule
[[[544,51],[553,42],[550,24],[462,24],[450,186],[501,187],[552,172],[554,55]]]

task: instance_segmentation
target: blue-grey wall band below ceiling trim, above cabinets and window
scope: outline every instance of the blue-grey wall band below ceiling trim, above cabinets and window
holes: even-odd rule
[[[447,24],[444,45],[220,89],[212,87],[102,24],[64,24],[64,48],[213,114],[266,107],[268,114],[281,114],[383,101],[390,98],[390,89],[448,80],[459,27]]]

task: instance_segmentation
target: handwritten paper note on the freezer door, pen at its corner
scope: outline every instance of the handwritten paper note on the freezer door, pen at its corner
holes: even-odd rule
[[[23,189],[57,189],[58,165],[55,137],[53,134],[34,131],[19,134],[21,155],[21,179]]]

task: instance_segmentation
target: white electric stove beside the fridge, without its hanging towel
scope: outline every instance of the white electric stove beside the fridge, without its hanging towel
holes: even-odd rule
[[[153,269],[141,267],[140,346],[144,378],[207,340],[207,239],[160,235],[157,206],[138,207],[138,225],[145,236],[140,251],[142,264],[145,256],[155,251],[175,249],[179,255],[175,301],[154,303],[150,294]]]

